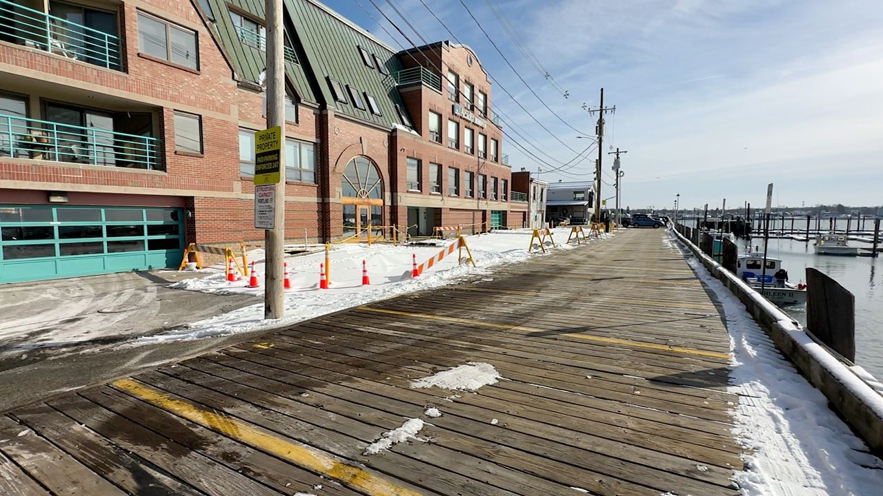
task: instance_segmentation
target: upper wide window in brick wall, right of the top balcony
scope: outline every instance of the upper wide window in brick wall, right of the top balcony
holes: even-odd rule
[[[141,53],[183,65],[200,68],[196,32],[138,12],[138,46]]]

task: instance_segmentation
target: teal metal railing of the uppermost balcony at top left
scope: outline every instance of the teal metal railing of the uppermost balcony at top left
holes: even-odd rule
[[[122,68],[119,38],[67,19],[0,0],[0,40],[100,65]]]

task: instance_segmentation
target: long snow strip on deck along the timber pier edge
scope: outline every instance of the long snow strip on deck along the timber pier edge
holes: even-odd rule
[[[697,259],[688,262],[723,305],[732,351],[729,390],[739,395],[734,433],[750,453],[735,477],[743,494],[878,493],[883,462],[781,357],[738,298]]]

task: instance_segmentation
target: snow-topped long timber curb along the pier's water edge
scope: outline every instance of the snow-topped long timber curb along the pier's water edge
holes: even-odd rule
[[[751,313],[776,347],[827,398],[831,407],[846,420],[853,432],[872,449],[883,455],[883,396],[847,368],[834,354],[804,332],[793,319],[766,298],[729,273],[684,237],[676,226],[675,237],[685,244]]]

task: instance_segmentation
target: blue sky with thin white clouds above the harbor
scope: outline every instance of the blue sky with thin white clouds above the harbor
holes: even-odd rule
[[[589,141],[562,124],[517,79],[459,0],[424,0],[479,54],[482,64],[568,147]],[[623,155],[623,206],[683,207],[883,204],[883,2],[841,0],[464,0],[543,101],[565,122],[593,132],[582,105],[615,105],[604,139],[604,181],[613,184],[609,147]],[[499,6],[555,84],[544,78],[494,18]],[[326,0],[398,48],[410,46],[369,0]],[[371,12],[380,25],[366,15]],[[374,0],[418,40],[386,0]],[[419,0],[393,0],[430,41],[450,35]],[[381,26],[396,34],[393,39]],[[555,87],[557,86],[557,88]],[[566,90],[564,98],[559,88]],[[552,162],[575,153],[536,124],[497,86],[492,106],[503,128]],[[525,142],[527,141],[527,142]],[[504,140],[513,170],[537,171]],[[593,160],[548,181],[592,178]],[[559,165],[560,166],[560,165]],[[542,166],[548,169],[547,166]],[[602,184],[602,197],[612,196]],[[610,202],[612,206],[612,201]]]

